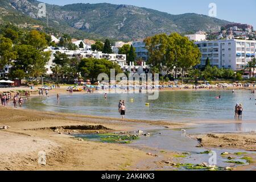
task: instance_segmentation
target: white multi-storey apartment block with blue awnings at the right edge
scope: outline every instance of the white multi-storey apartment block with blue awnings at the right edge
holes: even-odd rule
[[[213,40],[195,42],[202,53],[201,66],[205,65],[207,57],[210,64],[218,68],[241,70],[255,57],[255,40]]]

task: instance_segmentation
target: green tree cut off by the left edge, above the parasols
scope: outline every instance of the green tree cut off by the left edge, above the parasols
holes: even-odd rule
[[[11,61],[16,59],[16,52],[13,49],[13,42],[9,38],[0,39],[0,68],[11,64]]]

